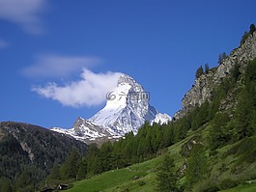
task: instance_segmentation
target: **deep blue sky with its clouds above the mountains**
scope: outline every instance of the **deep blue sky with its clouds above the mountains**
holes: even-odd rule
[[[0,0],[0,121],[69,128],[104,106],[104,85],[118,72],[172,116],[195,70],[239,46],[255,8],[255,0]]]

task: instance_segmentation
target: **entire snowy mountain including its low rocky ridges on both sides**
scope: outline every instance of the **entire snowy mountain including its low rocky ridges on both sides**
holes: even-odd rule
[[[66,133],[75,139],[91,142],[103,142],[134,134],[145,122],[168,123],[171,117],[161,114],[149,104],[150,93],[132,77],[122,74],[117,86],[106,95],[106,105],[92,118],[78,118],[71,129],[53,127],[51,130]]]

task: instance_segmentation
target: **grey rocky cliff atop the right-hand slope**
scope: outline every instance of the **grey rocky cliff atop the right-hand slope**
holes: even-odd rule
[[[248,61],[253,60],[255,57],[256,32],[249,35],[241,46],[231,51],[230,55],[218,67],[211,69],[208,73],[204,73],[195,79],[194,85],[182,100],[182,110],[178,111],[174,115],[174,118],[179,119],[183,117],[194,106],[200,106],[204,101],[209,100],[213,93],[213,87],[218,85],[236,64],[240,65],[240,70],[243,73]]]

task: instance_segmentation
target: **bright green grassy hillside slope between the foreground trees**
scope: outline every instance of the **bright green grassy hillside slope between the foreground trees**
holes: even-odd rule
[[[185,164],[187,162],[187,156],[183,155],[185,147],[191,145],[193,138],[198,138],[199,135],[205,135],[201,138],[205,140],[208,135],[208,128],[190,132],[190,136],[185,140],[168,148],[166,153],[170,154],[175,159],[176,171],[181,174],[182,178],[179,181],[181,191],[185,185],[185,175],[182,175]],[[247,142],[244,140],[243,142]],[[236,185],[242,185],[240,188],[244,188],[243,191],[253,191],[256,181],[250,181],[255,179],[256,175],[256,161],[247,163],[242,161],[239,163],[239,159],[244,158],[244,153],[232,153],[235,148],[242,148],[241,142],[226,145],[223,148],[217,150],[217,154],[210,157],[211,177],[207,180],[202,180],[201,185],[197,186],[194,190],[196,192],[204,191],[208,186],[217,187],[212,191],[218,191],[221,189],[227,189],[235,187]],[[256,148],[254,149],[254,152]],[[156,157],[152,160],[148,160],[142,163],[131,165],[127,168],[112,170],[102,173],[93,178],[81,180],[74,183],[74,186],[67,192],[148,192],[156,190],[156,170],[162,161],[164,155]],[[249,157],[249,156],[246,156]],[[245,158],[246,158],[245,157]],[[227,192],[240,191],[240,190],[227,190]]]

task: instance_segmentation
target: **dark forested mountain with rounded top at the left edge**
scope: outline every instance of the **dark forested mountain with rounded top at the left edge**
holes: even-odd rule
[[[62,163],[72,149],[80,154],[87,145],[61,133],[29,123],[0,123],[0,176],[17,179],[25,170],[42,180],[54,164]]]

